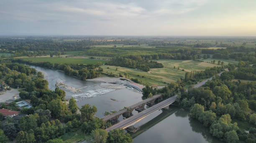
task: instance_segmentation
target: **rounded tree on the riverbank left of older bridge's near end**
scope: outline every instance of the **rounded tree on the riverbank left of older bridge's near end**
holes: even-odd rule
[[[94,105],[90,106],[90,104],[85,104],[84,106],[82,106],[80,111],[81,111],[81,118],[84,121],[88,121],[93,118],[93,116],[97,112],[97,108]]]

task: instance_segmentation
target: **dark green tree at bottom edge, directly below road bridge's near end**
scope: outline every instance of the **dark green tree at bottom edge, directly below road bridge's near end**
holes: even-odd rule
[[[133,139],[130,134],[124,132],[123,129],[111,130],[108,133],[108,143],[132,143]]]

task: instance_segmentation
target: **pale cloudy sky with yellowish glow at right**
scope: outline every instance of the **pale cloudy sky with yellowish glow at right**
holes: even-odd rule
[[[256,36],[256,0],[1,0],[0,35]]]

